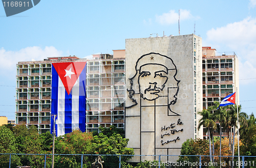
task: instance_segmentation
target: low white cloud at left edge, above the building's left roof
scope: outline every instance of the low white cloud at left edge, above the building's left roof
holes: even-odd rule
[[[13,73],[16,70],[16,64],[21,61],[41,61],[47,59],[47,57],[59,57],[62,51],[58,51],[53,46],[46,46],[42,49],[38,46],[22,48],[18,51],[6,51],[0,48],[0,66],[1,72]],[[2,73],[4,75],[5,73]],[[6,74],[8,76],[8,74]]]

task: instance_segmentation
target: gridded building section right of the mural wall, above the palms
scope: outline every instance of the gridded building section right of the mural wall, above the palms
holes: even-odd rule
[[[212,106],[214,101],[221,102],[227,95],[237,92],[239,103],[239,67],[234,52],[218,54],[216,49],[202,47],[203,52],[203,108]],[[214,135],[219,135],[215,132]],[[204,136],[206,131],[204,130]],[[227,132],[223,132],[227,136]]]

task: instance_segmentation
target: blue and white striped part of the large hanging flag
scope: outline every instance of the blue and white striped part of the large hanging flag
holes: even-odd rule
[[[59,134],[57,134],[57,136],[60,136],[63,133],[70,133],[72,132],[72,128],[76,128],[78,126],[82,132],[86,131],[86,70],[87,70],[86,66],[84,66],[81,74],[79,75],[79,96],[78,95],[73,96],[72,91],[68,95],[67,91],[63,90],[62,88],[63,85],[62,85],[62,82],[59,80],[58,73],[54,68],[54,66],[52,66],[52,108],[51,108],[52,112],[51,114],[57,115],[56,120],[58,118],[60,120],[59,123],[55,125],[56,134],[57,134],[57,130],[59,129]],[[74,91],[74,94],[78,94],[78,93]],[[61,95],[63,97],[59,97]],[[78,98],[77,96],[79,97],[79,100],[77,100]],[[72,102],[72,97],[76,98],[76,100],[73,100],[73,102]],[[62,104],[62,100],[63,100],[63,104]],[[72,105],[74,101],[75,101],[75,104]],[[75,111],[77,111],[76,106],[78,104],[79,106],[77,110],[79,112],[79,116],[77,116],[76,115],[77,113],[75,113]],[[72,109],[72,106],[75,109]],[[72,111],[72,110],[75,110],[75,111]],[[73,114],[74,116],[72,116]],[[51,133],[53,132],[53,123],[54,123],[53,119],[51,118]]]

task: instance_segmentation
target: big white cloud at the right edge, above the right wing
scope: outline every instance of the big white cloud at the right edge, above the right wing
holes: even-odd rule
[[[255,83],[256,80],[256,19],[245,18],[207,31],[207,42],[222,49],[233,50],[238,54],[239,78],[242,85]]]

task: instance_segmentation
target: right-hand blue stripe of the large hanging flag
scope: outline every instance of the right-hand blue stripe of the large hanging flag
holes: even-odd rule
[[[86,66],[79,76],[79,128],[86,131]]]

